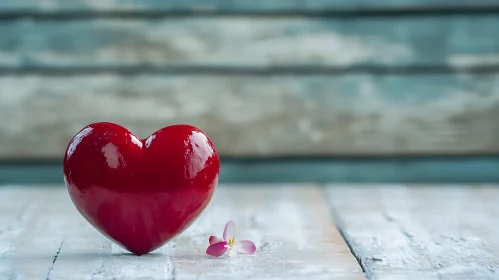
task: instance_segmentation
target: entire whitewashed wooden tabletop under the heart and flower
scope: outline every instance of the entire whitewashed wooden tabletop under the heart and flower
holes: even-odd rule
[[[222,185],[186,232],[137,257],[63,186],[0,186],[0,279],[499,279],[498,214],[499,186]],[[229,219],[255,255],[205,254]]]

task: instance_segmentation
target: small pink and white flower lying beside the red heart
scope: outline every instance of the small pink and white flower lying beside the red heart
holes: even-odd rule
[[[236,250],[245,255],[252,255],[256,251],[256,246],[253,242],[249,240],[235,241],[236,236],[236,224],[233,221],[227,222],[224,229],[224,239],[218,238],[216,236],[210,236],[208,240],[210,246],[206,249],[206,254],[214,257],[220,257],[229,250],[229,256],[236,254]]]

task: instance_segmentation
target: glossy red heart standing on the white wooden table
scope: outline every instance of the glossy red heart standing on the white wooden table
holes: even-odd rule
[[[187,229],[215,191],[220,162],[199,129],[172,125],[145,140],[113,123],[73,137],[64,179],[78,211],[102,234],[136,255]]]

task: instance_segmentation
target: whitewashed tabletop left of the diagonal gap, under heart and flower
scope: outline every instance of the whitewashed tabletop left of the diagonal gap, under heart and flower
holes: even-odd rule
[[[364,279],[315,187],[219,187],[193,226],[141,257],[85,222],[62,187],[0,187],[0,210],[0,279]],[[229,219],[255,255],[205,254]]]

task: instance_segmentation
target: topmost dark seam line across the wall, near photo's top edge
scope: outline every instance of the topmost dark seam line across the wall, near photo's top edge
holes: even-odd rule
[[[422,6],[422,7],[395,7],[395,8],[368,8],[341,9],[322,8],[318,10],[276,9],[261,11],[257,9],[244,10],[213,10],[213,9],[177,9],[177,10],[144,10],[115,9],[103,11],[39,11],[36,9],[13,9],[0,12],[0,21],[12,20],[82,20],[82,19],[162,19],[162,18],[191,18],[191,17],[287,17],[287,18],[379,18],[379,17],[428,17],[428,16],[475,16],[494,15],[499,13],[498,5],[473,6]]]

